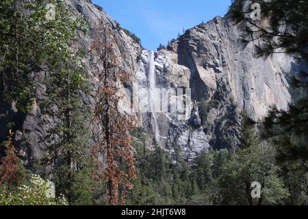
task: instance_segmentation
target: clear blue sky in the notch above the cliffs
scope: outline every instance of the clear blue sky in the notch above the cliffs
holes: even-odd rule
[[[231,0],[92,0],[136,34],[146,49],[177,38],[184,29],[227,13]]]

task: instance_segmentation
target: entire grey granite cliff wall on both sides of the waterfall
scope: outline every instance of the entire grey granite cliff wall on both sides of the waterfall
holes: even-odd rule
[[[188,29],[183,36],[172,40],[167,49],[153,53],[150,63],[151,51],[142,49],[105,12],[84,0],[67,0],[67,3],[73,6],[74,13],[84,14],[92,25],[101,19],[112,27],[120,64],[131,74],[131,80],[123,84],[123,88],[138,88],[136,117],[139,125],[153,137],[159,133],[157,142],[163,148],[173,151],[174,146],[179,145],[188,161],[209,147],[220,149],[235,145],[238,114],[243,108],[251,118],[261,120],[270,105],[285,108],[291,99],[287,73],[292,59],[285,55],[274,55],[266,60],[253,57],[252,46],[241,48],[238,29],[225,18],[216,17],[209,23]],[[81,38],[79,46],[89,51],[92,38],[90,30],[88,36]],[[97,77],[93,73],[90,55],[84,58],[84,62],[93,88],[89,96],[83,96],[84,105],[92,109]],[[185,96],[185,106],[189,111],[185,119],[179,119],[176,112],[141,110],[140,105],[151,105],[146,93],[151,65],[155,88],[190,88],[191,95],[189,91],[180,95],[163,95],[163,99],[168,99],[168,109],[179,97]],[[44,72],[35,76],[38,83],[36,105],[29,114],[17,114],[14,107],[1,105],[0,138],[4,140],[6,137],[8,121],[16,123],[16,146],[28,166],[34,166],[44,156],[49,143],[44,137],[49,126],[56,123],[55,118],[40,112],[46,77],[48,73]],[[201,101],[206,103],[206,119],[203,118],[202,122]]]

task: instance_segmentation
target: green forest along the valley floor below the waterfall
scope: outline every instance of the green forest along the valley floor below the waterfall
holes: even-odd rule
[[[129,205],[283,205],[307,201],[304,184],[298,186],[276,164],[276,149],[262,144],[245,112],[240,148],[199,153],[188,165],[178,144],[172,156],[156,147],[136,157],[138,178],[127,196]],[[248,131],[247,131],[248,130]],[[155,143],[155,142],[154,142]],[[155,145],[155,144],[154,144]],[[136,150],[142,144],[136,144]],[[158,156],[156,156],[158,155]],[[172,157],[172,159],[170,159]],[[295,177],[295,175],[293,175]],[[307,182],[307,175],[296,175]],[[251,183],[261,184],[261,198],[252,198]],[[293,194],[292,194],[293,193]],[[300,195],[299,195],[300,194]]]

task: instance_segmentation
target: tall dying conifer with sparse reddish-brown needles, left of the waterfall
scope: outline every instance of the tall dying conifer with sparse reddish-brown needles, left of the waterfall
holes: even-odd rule
[[[118,65],[116,41],[112,30],[103,21],[94,27],[94,39],[90,52],[99,78],[94,117],[101,127],[93,150],[98,161],[96,179],[107,181],[110,205],[123,204],[125,190],[133,188],[131,179],[136,176],[129,136],[129,130],[133,128],[133,117],[118,109],[118,103],[123,97],[118,94],[118,83],[123,83],[129,75]]]

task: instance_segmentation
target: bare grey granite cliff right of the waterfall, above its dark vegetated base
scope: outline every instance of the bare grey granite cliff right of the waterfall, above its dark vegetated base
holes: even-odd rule
[[[235,25],[216,17],[207,24],[194,27],[179,38],[179,64],[189,66],[192,95],[200,100],[212,99],[216,92],[232,98],[244,107],[254,120],[266,114],[270,105],[286,107],[290,100],[287,75],[292,59],[273,55],[266,60],[253,57],[253,44],[242,48]]]

